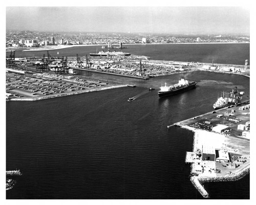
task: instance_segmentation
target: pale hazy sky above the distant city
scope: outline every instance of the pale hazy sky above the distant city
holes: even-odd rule
[[[247,33],[243,7],[6,7],[6,29],[88,32]]]

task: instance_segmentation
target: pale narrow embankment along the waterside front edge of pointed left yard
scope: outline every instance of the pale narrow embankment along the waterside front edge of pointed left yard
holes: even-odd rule
[[[42,96],[42,97],[36,97],[36,98],[14,98],[14,99],[9,99],[8,101],[37,101],[37,100],[46,100],[46,99],[51,99],[51,98],[58,98],[58,97],[65,97],[65,96],[89,93],[89,92],[96,92],[96,91],[105,90],[105,89],[114,89],[114,88],[119,88],[119,87],[127,87],[127,85],[112,85],[112,86],[103,87],[103,88],[100,88],[100,89],[82,90],[82,91],[76,91],[76,92],[72,92],[72,93],[65,93],[65,94],[62,93],[62,94],[58,94],[58,95]]]

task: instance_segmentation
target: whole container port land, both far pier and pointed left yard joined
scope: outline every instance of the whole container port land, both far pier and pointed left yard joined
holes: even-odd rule
[[[15,50],[7,52],[7,100],[40,100],[93,90],[125,86],[120,82],[91,80],[78,76],[77,71],[89,71],[125,77],[149,79],[152,77],[193,71],[236,73],[249,76],[248,61],[242,65],[216,65],[198,62],[148,60],[146,56],[47,56],[15,58]],[[246,64],[247,63],[247,64]]]

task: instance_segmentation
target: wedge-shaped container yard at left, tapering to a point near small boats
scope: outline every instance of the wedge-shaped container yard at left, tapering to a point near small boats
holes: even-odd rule
[[[54,73],[18,73],[14,69],[7,71],[8,100],[41,100],[126,86]]]

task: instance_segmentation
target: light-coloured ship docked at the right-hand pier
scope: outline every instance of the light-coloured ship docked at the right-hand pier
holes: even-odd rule
[[[221,94],[221,97],[217,99],[216,103],[214,103],[214,109],[221,109],[223,107],[228,107],[233,104],[240,103],[242,100],[242,95],[244,95],[244,92],[240,92],[238,94],[237,87],[232,89],[231,93],[225,93],[223,92]]]

